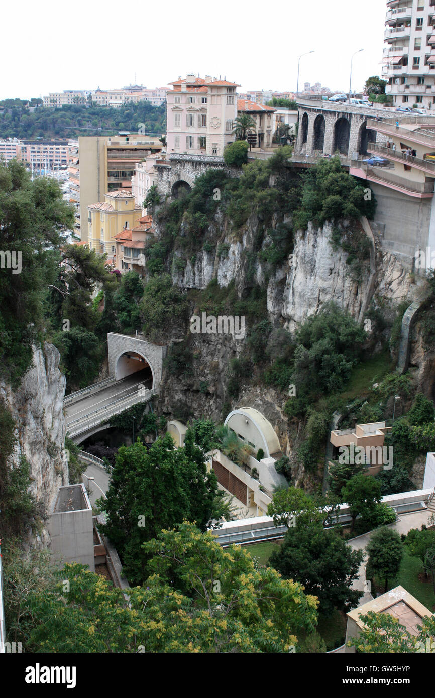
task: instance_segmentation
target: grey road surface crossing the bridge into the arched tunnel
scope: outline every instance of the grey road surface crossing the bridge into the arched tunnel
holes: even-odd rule
[[[130,376],[117,380],[116,383],[108,385],[108,387],[103,388],[100,392],[88,395],[82,400],[66,407],[65,415],[67,426],[75,422],[75,419],[85,417],[117,399],[133,394],[138,385],[145,385],[146,388],[152,388],[152,378],[149,377],[149,369],[142,369],[142,371],[131,373]]]

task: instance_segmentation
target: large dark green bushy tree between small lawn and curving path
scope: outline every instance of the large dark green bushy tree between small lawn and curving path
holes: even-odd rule
[[[285,579],[295,579],[319,600],[327,615],[334,608],[348,610],[357,605],[362,591],[351,588],[362,563],[362,551],[353,551],[335,529],[325,530],[321,521],[307,526],[297,520],[269,563]]]

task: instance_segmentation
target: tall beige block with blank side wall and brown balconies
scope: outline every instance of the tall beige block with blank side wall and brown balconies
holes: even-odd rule
[[[101,201],[106,192],[122,188],[131,193],[131,178],[135,174],[136,163],[160,152],[162,144],[154,136],[126,131],[119,132],[117,136],[80,136],[78,143],[80,236],[86,241],[87,207]]]

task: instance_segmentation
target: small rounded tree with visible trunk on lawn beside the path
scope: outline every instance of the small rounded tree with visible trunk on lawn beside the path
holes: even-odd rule
[[[385,591],[388,591],[388,579],[396,577],[401,558],[404,556],[404,546],[399,533],[392,528],[379,528],[371,535],[366,550],[369,556],[367,574],[383,577]]]

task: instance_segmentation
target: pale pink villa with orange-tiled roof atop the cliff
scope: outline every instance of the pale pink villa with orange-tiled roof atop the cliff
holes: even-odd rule
[[[187,75],[170,84],[173,89],[166,94],[168,153],[222,156],[226,145],[235,140],[235,91],[239,86],[210,75]]]

